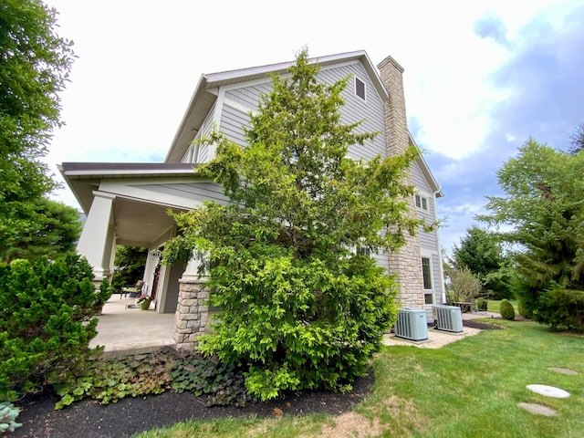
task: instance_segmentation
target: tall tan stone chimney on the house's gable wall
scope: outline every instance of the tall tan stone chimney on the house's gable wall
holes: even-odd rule
[[[408,122],[403,94],[403,68],[392,57],[386,57],[377,66],[381,82],[390,99],[385,102],[385,141],[388,156],[403,153],[410,144]],[[411,214],[415,214],[410,197]],[[405,245],[399,253],[391,253],[390,271],[397,274],[400,284],[398,300],[404,308],[424,308],[422,255],[420,239],[406,233]]]

